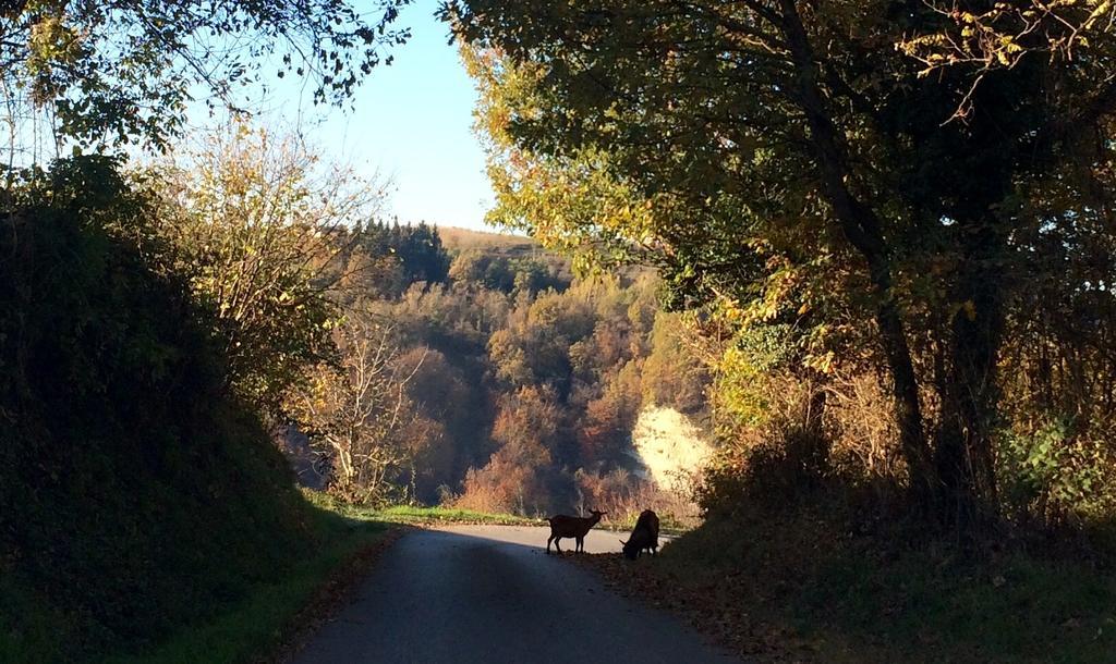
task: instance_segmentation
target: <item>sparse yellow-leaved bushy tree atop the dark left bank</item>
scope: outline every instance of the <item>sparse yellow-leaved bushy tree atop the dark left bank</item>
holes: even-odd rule
[[[317,172],[294,139],[243,125],[161,177],[160,233],[214,314],[231,387],[277,414],[302,369],[333,353],[329,294],[352,267],[331,270],[334,258],[352,242],[343,231],[382,194],[346,170]]]

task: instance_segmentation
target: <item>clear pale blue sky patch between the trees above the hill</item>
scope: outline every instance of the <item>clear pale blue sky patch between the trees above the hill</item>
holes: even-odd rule
[[[412,38],[362,84],[355,110],[315,108],[295,86],[276,90],[269,106],[323,157],[392,177],[387,209],[400,222],[482,228],[492,191],[472,131],[477,92],[448,26],[433,17],[437,4],[419,0],[401,12],[398,26],[411,27]]]

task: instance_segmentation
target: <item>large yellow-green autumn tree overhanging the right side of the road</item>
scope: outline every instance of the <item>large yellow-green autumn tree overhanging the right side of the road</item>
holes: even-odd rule
[[[1114,108],[1094,84],[1112,62],[1099,20],[1077,21],[1087,41],[1064,32],[1072,57],[999,66],[993,49],[978,86],[962,68],[923,76],[987,4],[471,0],[445,14],[485,72],[506,209],[532,212],[556,177],[622,191],[607,215],[541,217],[559,236],[639,247],[691,302],[819,329],[867,313],[915,502],[968,518],[995,501],[997,359],[1029,262],[1013,234],[1069,222],[1020,203],[1052,173],[1070,199],[1096,188]]]

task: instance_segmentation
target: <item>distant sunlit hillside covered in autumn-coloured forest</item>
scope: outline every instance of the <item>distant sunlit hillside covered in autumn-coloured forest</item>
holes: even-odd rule
[[[328,490],[530,516],[578,506],[623,519],[648,504],[694,516],[632,442],[644,408],[706,414],[708,374],[653,274],[577,279],[529,240],[425,225],[374,222],[336,242],[352,247],[330,277],[343,371],[323,367],[291,400]],[[365,367],[382,382],[363,408],[387,426],[329,436]]]

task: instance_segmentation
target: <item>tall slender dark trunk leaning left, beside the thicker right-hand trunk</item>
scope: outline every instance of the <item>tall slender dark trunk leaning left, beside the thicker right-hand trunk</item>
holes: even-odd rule
[[[916,505],[931,504],[937,482],[930,447],[922,426],[918,380],[911,359],[906,330],[898,303],[892,293],[889,252],[883,224],[875,212],[857,199],[848,188],[852,169],[848,155],[821,95],[818,65],[795,0],[781,0],[780,27],[798,71],[796,90],[806,115],[810,139],[817,156],[821,191],[841,232],[868,264],[868,275],[876,299],[876,324],[892,374],[892,396],[899,428],[899,443],[911,476],[911,491]]]

